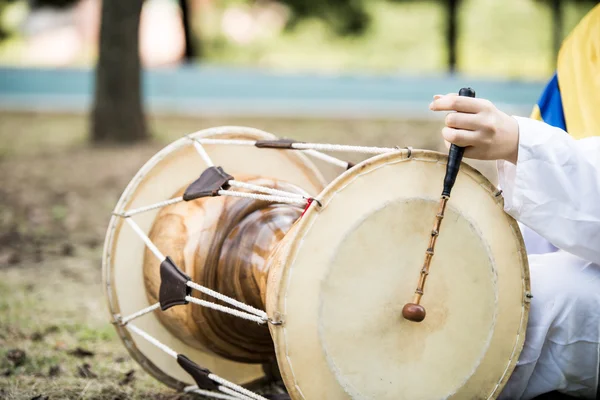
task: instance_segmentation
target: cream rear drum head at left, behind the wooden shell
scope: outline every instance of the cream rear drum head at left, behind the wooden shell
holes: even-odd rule
[[[208,129],[190,136],[242,140],[276,139],[271,134],[241,127]],[[285,180],[312,195],[318,194],[325,186],[319,171],[301,152],[220,144],[203,147],[215,165],[223,167],[234,177],[236,174],[247,174]],[[182,138],[164,148],[141,168],[121,196],[115,210],[124,212],[167,200],[181,187],[197,179],[206,167],[190,138]],[[152,210],[131,218],[148,234],[158,211]],[[125,224],[122,218],[113,217],[107,232],[103,257],[103,277],[113,318],[117,315],[130,315],[150,305],[143,281],[144,251],[144,243],[131,227]],[[176,352],[186,355],[225,379],[242,384],[263,376],[261,365],[228,361],[186,345],[173,336],[154,314],[144,315],[133,323]],[[132,357],[157,379],[174,388],[194,384],[192,378],[181,369],[174,358],[144,339],[131,335],[123,327],[117,326],[117,331]]]

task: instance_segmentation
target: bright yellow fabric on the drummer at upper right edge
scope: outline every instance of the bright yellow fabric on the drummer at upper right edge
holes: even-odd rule
[[[567,130],[577,139],[600,136],[599,58],[600,4],[579,22],[558,54],[558,84]],[[537,112],[539,115],[539,109]]]

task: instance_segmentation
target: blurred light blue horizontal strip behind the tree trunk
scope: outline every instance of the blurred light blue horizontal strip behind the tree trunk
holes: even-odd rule
[[[143,92],[152,112],[261,116],[430,116],[434,94],[472,86],[478,97],[527,115],[544,82],[461,76],[291,74],[229,67],[146,71]],[[90,69],[0,68],[0,109],[79,112],[93,100]]]

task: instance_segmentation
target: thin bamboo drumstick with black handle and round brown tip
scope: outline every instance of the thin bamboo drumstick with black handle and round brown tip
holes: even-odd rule
[[[458,95],[475,97],[475,91],[471,88],[462,88],[458,92]],[[425,280],[427,279],[427,275],[429,275],[429,266],[431,265],[431,259],[433,258],[435,242],[440,233],[440,225],[442,224],[442,219],[444,218],[446,203],[450,198],[450,192],[452,191],[454,182],[456,182],[456,177],[458,176],[458,170],[460,168],[460,163],[462,161],[464,152],[464,147],[459,147],[455,144],[450,146],[450,151],[448,152],[448,164],[446,164],[446,176],[444,177],[444,190],[442,191],[438,213],[435,216],[435,223],[433,224],[433,230],[431,231],[429,247],[425,252],[425,262],[423,263],[423,268],[421,269],[419,283],[417,284],[417,289],[415,290],[413,302],[407,303],[404,308],[402,308],[402,316],[409,321],[421,322],[425,319],[425,307],[419,303],[421,302],[421,297],[423,297]]]

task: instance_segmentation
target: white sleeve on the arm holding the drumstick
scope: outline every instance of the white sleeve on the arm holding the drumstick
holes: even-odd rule
[[[529,118],[517,164],[498,161],[504,210],[554,246],[600,264],[600,137],[575,140]]]

